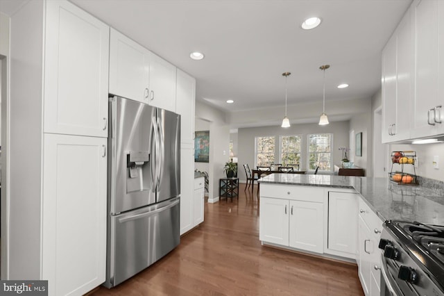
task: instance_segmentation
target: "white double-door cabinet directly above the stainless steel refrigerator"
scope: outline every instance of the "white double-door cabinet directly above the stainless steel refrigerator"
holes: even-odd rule
[[[111,28],[109,90],[176,112],[176,67]]]

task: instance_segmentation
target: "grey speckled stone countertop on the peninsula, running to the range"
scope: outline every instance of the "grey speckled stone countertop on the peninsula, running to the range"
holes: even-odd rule
[[[444,225],[443,190],[403,186],[386,178],[321,174],[270,174],[260,183],[354,188],[382,220],[418,221]]]

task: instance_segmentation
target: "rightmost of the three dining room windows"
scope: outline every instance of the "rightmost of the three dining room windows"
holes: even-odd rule
[[[315,133],[308,135],[308,168],[309,170],[332,170],[332,133]]]

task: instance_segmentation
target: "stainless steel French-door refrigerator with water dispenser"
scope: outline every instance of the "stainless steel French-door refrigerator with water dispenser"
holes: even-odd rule
[[[180,243],[180,115],[111,97],[109,118],[107,288]]]

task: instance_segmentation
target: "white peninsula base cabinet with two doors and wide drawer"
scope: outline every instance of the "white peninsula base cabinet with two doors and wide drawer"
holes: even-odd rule
[[[321,188],[261,184],[259,240],[322,254],[323,192]]]

